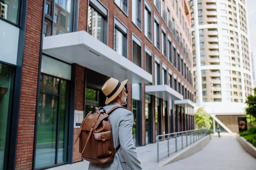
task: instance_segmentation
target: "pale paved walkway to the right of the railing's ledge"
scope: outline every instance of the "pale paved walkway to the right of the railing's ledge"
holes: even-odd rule
[[[194,155],[157,170],[256,170],[256,159],[235,137],[213,137]]]

